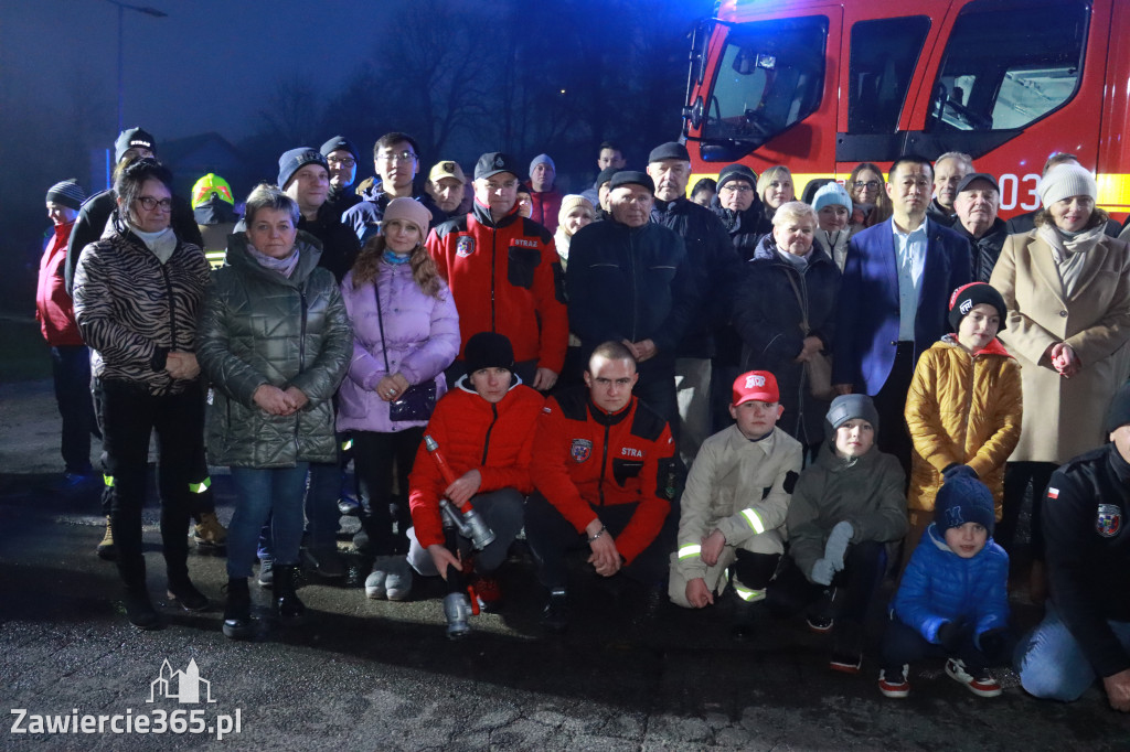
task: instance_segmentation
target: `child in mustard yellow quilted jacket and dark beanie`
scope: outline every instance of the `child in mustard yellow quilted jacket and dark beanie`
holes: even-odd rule
[[[997,340],[1005,327],[1005,299],[992,286],[973,282],[954,290],[946,334],[922,353],[906,395],[911,532],[905,565],[933,519],[942,482],[964,474],[992,491],[997,521],[1005,493],[1005,461],[1020,438],[1020,367]]]

